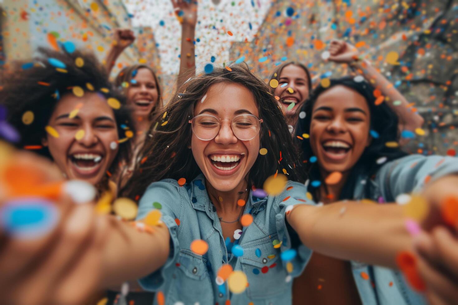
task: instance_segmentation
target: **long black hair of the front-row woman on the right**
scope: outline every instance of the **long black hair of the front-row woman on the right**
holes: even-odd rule
[[[378,134],[378,137],[372,136],[371,144],[365,148],[360,159],[356,162],[354,167],[351,170],[351,173],[348,176],[345,186],[342,188],[342,193],[340,198],[336,199],[352,199],[353,191],[356,186],[356,178],[359,175],[364,175],[370,177],[373,175],[382,164],[378,164],[376,161],[379,158],[386,157],[387,161],[398,159],[406,153],[400,150],[398,147],[390,148],[387,147],[387,142],[398,142],[398,116],[393,110],[388,107],[386,103],[380,105],[375,105],[375,96],[373,94],[374,87],[368,84],[365,81],[356,82],[352,77],[344,77],[340,79],[332,79],[331,85],[328,87],[323,87],[321,85],[317,86],[315,90],[311,93],[309,99],[305,102],[304,106],[301,108],[300,112],[305,112],[305,118],[299,119],[296,127],[296,136],[302,137],[302,134],[310,134],[310,124],[312,118],[312,110],[318,99],[323,92],[332,88],[333,86],[345,86],[351,90],[358,92],[365,98],[367,105],[369,107],[370,117],[371,117],[371,127],[370,130],[375,131]],[[340,102],[340,101],[339,101]],[[369,133],[370,130],[367,132]],[[375,135],[374,132],[372,132]],[[297,137],[295,139],[299,141],[299,145],[302,148],[302,157],[306,161],[310,156],[314,155],[310,141],[308,139],[299,140]],[[305,174],[310,177],[311,180],[322,180],[323,177],[320,177],[319,165],[318,162],[311,163],[305,162]],[[366,183],[366,186],[369,187],[370,183]],[[366,187],[366,195],[368,195],[369,189]],[[315,189],[316,190],[316,189]],[[318,192],[314,193],[316,200],[319,200]]]

